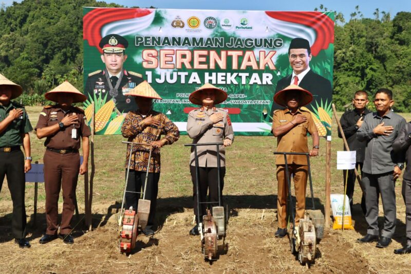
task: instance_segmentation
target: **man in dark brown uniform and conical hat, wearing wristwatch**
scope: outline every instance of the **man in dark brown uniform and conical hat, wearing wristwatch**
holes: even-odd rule
[[[46,234],[40,239],[41,244],[57,238],[58,201],[60,189],[63,189],[63,212],[59,238],[64,243],[72,244],[71,218],[74,212],[74,198],[79,173],[87,172],[88,136],[90,129],[85,123],[84,111],[71,106],[72,103],[84,102],[86,97],[69,82],[64,82],[45,94],[46,99],[57,102],[44,107],[40,113],[35,130],[37,137],[46,137],[44,145],[44,180],[46,189]],[[83,143],[83,163],[80,166],[80,140]]]

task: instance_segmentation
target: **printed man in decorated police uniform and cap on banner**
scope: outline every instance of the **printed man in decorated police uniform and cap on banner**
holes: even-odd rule
[[[135,100],[125,94],[143,82],[143,77],[123,68],[127,60],[127,40],[118,34],[108,34],[101,39],[99,46],[103,50],[101,61],[106,67],[88,75],[85,93],[89,98],[94,98],[94,94],[97,98],[106,97],[106,102],[113,99],[118,111],[124,114],[137,109]]]

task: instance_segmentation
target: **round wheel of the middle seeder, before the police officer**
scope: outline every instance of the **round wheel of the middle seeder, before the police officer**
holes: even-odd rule
[[[208,210],[207,216],[203,217],[204,223],[204,238],[202,240],[202,248],[204,257],[208,260],[213,260],[217,257],[217,226],[214,218]]]

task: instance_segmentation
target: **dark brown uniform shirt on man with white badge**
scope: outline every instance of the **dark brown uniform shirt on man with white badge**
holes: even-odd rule
[[[90,129],[85,121],[86,118],[84,111],[80,108],[70,106],[68,111],[64,113],[63,109],[59,105],[46,106],[40,113],[39,121],[35,126],[35,130],[60,123],[64,116],[73,114],[77,114],[77,117],[79,118],[78,123],[75,125],[66,126],[63,130],[59,130],[53,135],[48,136],[44,142],[45,147],[55,150],[80,149],[81,137],[88,137],[91,135]],[[71,138],[72,129],[77,130],[77,138]]]

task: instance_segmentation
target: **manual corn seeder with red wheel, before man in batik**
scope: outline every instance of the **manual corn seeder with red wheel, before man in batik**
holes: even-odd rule
[[[121,253],[129,253],[136,247],[136,238],[138,234],[138,228],[140,230],[144,230],[147,226],[148,222],[148,215],[150,214],[150,205],[151,201],[145,199],[145,190],[147,187],[147,180],[148,180],[148,170],[150,170],[150,160],[153,151],[153,146],[147,143],[135,143],[135,142],[126,142],[123,141],[122,143],[130,144],[130,156],[128,158],[128,165],[127,165],[127,174],[125,178],[125,186],[124,186],[124,193],[123,193],[123,201],[121,203],[121,210],[119,215],[119,230],[120,230],[120,243],[119,248]],[[138,200],[137,206],[137,214],[133,207],[130,207],[128,210],[126,209],[123,214],[124,203],[125,203],[125,193],[140,193],[141,192],[134,192],[127,190],[127,182],[128,182],[128,174],[130,171],[130,163],[132,159],[133,153],[133,146],[134,145],[146,145],[150,146],[150,153],[148,154],[148,163],[147,163],[147,172],[145,175],[144,181],[144,191],[143,191],[143,198]]]

